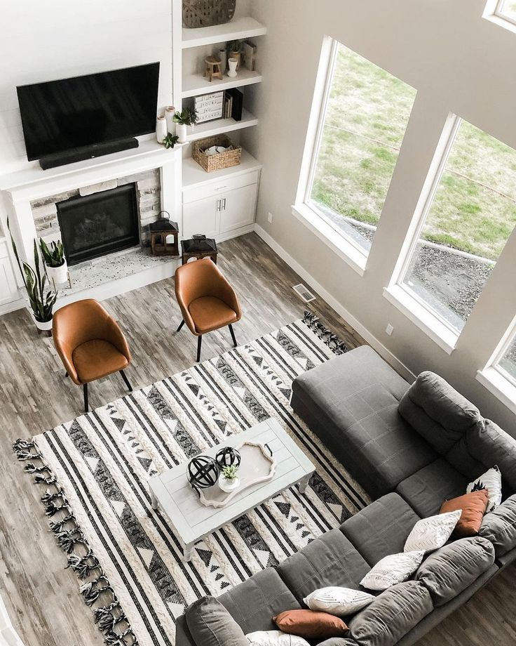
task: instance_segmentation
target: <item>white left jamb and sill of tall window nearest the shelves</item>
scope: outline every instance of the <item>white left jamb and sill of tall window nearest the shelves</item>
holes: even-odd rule
[[[315,169],[317,167],[322,131],[332,90],[332,81],[337,61],[339,41],[325,36],[322,41],[322,51],[319,63],[315,91],[308,122],[306,145],[304,150],[299,185],[295,203],[292,206],[293,215],[301,220],[319,239],[351,266],[360,276],[365,274],[368,253],[329,220],[320,209],[311,202],[311,190]]]

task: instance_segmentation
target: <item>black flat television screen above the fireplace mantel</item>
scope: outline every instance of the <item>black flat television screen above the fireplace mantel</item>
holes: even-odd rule
[[[18,86],[30,161],[156,130],[159,62]]]

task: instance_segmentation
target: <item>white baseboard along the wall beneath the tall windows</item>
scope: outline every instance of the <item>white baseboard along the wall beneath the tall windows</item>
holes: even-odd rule
[[[403,378],[407,379],[407,381],[414,381],[416,376],[414,373],[412,373],[405,364],[403,364],[398,357],[393,355],[391,350],[388,350],[388,348],[379,341],[376,336],[371,334],[369,330],[356,319],[351,312],[348,312],[346,308],[344,308],[339,301],[337,301],[337,298],[334,298],[332,294],[330,294],[329,291],[327,291],[315,278],[310,275],[304,267],[302,267],[292,256],[290,256],[290,253],[287,253],[285,249],[283,249],[283,246],[280,246],[273,237],[271,237],[264,228],[262,228],[259,224],[254,225],[254,231],[259,235],[259,237],[262,238],[262,240],[268,244],[273,251],[275,251],[280,258],[289,265],[294,272],[299,274],[301,278],[308,283],[309,286],[311,286],[312,289],[314,289],[319,296],[325,299],[325,301],[328,303],[328,305],[331,305],[331,307],[339,314],[341,317],[351,325],[351,327],[362,336],[362,338],[371,345],[378,354],[383,357],[383,359],[386,360],[391,366],[397,371]]]

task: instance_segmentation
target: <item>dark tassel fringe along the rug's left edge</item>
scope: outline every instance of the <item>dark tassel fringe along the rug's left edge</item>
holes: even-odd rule
[[[16,440],[13,443],[13,451],[18,460],[31,460],[25,465],[24,470],[27,473],[35,474],[34,482],[36,484],[47,484],[49,487],[53,487],[53,489],[46,489],[45,494],[41,496],[41,502],[45,506],[45,514],[53,517],[66,512],[62,518],[48,523],[49,531],[55,535],[57,545],[68,555],[66,567],[72,569],[81,581],[88,579],[91,574],[95,573],[94,579],[86,581],[79,588],[84,602],[91,608],[101,598],[105,599],[104,603],[110,600],[109,605],[92,608],[95,624],[104,635],[104,643],[107,646],[139,646],[125,612],[123,612],[120,602],[109,584],[109,579],[105,576],[99,560],[86,541],[79,522],[69,508],[64,489],[43,460],[36,440]],[[83,553],[74,553],[76,549],[80,549]],[[119,632],[116,632],[115,628],[118,628]]]

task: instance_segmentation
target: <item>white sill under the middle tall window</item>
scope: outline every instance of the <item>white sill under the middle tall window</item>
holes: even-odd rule
[[[420,330],[428,334],[432,341],[435,341],[447,355],[451,355],[451,352],[455,350],[459,338],[458,334],[454,334],[399,285],[384,287],[383,296],[412,323],[416,324]]]

